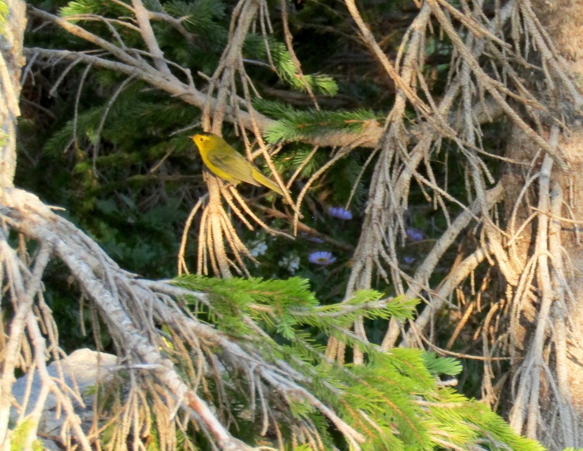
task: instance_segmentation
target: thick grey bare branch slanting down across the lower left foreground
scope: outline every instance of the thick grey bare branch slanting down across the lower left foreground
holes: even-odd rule
[[[141,283],[132,274],[121,272],[117,265],[104,255],[103,251],[97,248],[88,237],[67,221],[48,211],[47,207],[34,196],[12,190],[8,199],[10,199],[12,207],[5,209],[3,219],[27,236],[41,243],[50,242],[54,246],[55,254],[66,263],[80,286],[83,287],[83,291],[96,302],[101,311],[107,312],[110,332],[120,337],[122,343],[127,346],[128,357],[138,357],[141,362],[159,368],[156,371],[157,377],[164,382],[175,399],[181,400],[185,407],[194,411],[201,426],[207,429],[221,449],[232,449],[231,446],[234,446],[237,441],[220,424],[198,394],[185,385],[173,369],[173,364],[160,354],[159,350],[143,335],[143,332],[139,331],[134,322],[135,318],[128,315],[120,302],[120,294],[116,293],[117,289],[123,286],[125,290],[128,290],[127,294],[135,297],[135,301],[138,301],[149,290],[141,287]],[[27,213],[23,215],[22,212],[25,211]],[[55,226],[58,231],[55,231]],[[99,276],[102,272],[106,274],[104,277],[106,280],[108,279],[107,274],[110,274],[114,286],[108,287],[106,280]],[[37,287],[38,284],[34,286],[34,288]],[[150,301],[160,302],[156,301],[155,298],[151,298]],[[29,311],[26,305],[23,305],[24,311]],[[136,313],[145,312],[138,310]],[[18,339],[17,335],[14,337]],[[72,411],[69,414],[71,415]],[[79,431],[80,429],[77,431],[80,434],[78,438],[83,440],[85,435]],[[239,446],[236,445],[235,449],[238,449]]]

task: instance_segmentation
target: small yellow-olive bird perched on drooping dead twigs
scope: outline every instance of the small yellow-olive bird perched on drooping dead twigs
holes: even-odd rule
[[[283,191],[276,182],[261,174],[255,165],[247,161],[247,158],[233,149],[220,136],[204,132],[189,136],[189,138],[194,141],[201,153],[202,161],[213,174],[233,185],[239,182],[247,182],[255,186],[264,185],[283,196]]]

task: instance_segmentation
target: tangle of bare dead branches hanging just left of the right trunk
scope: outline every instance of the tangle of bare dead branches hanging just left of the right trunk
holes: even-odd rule
[[[354,20],[359,24],[356,5],[353,5],[352,2],[346,3]],[[438,6],[438,3],[440,6]],[[529,6],[526,5],[524,7],[527,9],[529,8]],[[408,33],[406,33],[401,50],[396,59],[397,62],[395,67],[401,67],[402,69],[397,73],[391,65],[384,64],[383,66],[385,71],[387,71],[387,74],[395,80],[399,89],[402,90],[403,95],[409,100],[413,107],[419,111],[420,117],[426,117],[426,114],[434,114],[434,119],[429,119],[429,122],[432,125],[436,125],[442,123],[442,118],[449,116],[448,131],[445,131],[445,133],[439,131],[439,133],[437,133],[439,138],[436,138],[436,135],[434,134],[436,132],[435,129],[428,127],[416,136],[416,145],[411,151],[409,151],[407,149],[407,138],[411,135],[409,134],[409,136],[406,136],[406,134],[403,133],[403,125],[401,123],[404,112],[402,108],[403,104],[401,103],[400,109],[397,108],[399,105],[399,97],[397,98],[394,110],[387,117],[389,128],[387,133],[385,133],[384,145],[382,146],[383,149],[381,150],[381,156],[377,163],[378,172],[375,172],[373,184],[371,184],[368,199],[371,208],[368,211],[366,219],[370,222],[367,222],[363,227],[363,235],[360,238],[359,247],[353,258],[354,264],[349,281],[349,288],[347,289],[347,297],[349,297],[352,287],[366,288],[370,286],[371,277],[373,277],[374,272],[381,275],[388,274],[387,270],[383,267],[384,265],[387,265],[391,270],[390,279],[392,283],[394,283],[396,293],[405,293],[405,287],[403,287],[402,284],[403,281],[409,284],[409,288],[406,291],[408,295],[415,295],[414,293],[419,293],[419,290],[422,289],[431,292],[430,287],[427,287],[427,280],[429,279],[427,274],[433,273],[433,269],[429,268],[434,266],[438,261],[435,260],[435,256],[433,255],[438,246],[433,248],[433,251],[427,256],[426,261],[417,268],[417,272],[413,279],[408,279],[408,277],[406,277],[399,269],[399,262],[397,259],[397,240],[399,237],[405,236],[403,213],[406,211],[410,181],[413,179],[419,184],[426,185],[431,189],[431,192],[434,193],[433,202],[441,205],[445,220],[448,220],[448,212],[444,201],[449,200],[449,202],[459,202],[452,198],[448,199],[448,196],[445,195],[447,189],[442,189],[436,184],[431,165],[429,164],[431,158],[430,155],[433,153],[433,150],[431,150],[431,143],[436,140],[436,147],[438,148],[441,137],[449,136],[449,138],[454,139],[458,144],[461,153],[467,158],[467,190],[470,192],[473,189],[476,192],[476,199],[473,200],[470,198],[468,199],[468,203],[474,203],[472,209],[475,213],[471,216],[480,217],[480,220],[484,221],[484,225],[481,229],[483,231],[483,238],[482,241],[480,241],[481,247],[467,256],[467,258],[462,259],[463,263],[461,266],[452,268],[451,273],[444,279],[442,285],[430,295],[427,300],[430,306],[420,314],[416,321],[416,325],[420,326],[415,327],[417,330],[422,330],[424,326],[430,324],[430,318],[433,317],[436,312],[436,305],[444,305],[442,304],[442,299],[440,300],[439,298],[434,297],[434,294],[439,293],[440,297],[441,294],[446,294],[447,297],[449,293],[451,293],[449,290],[454,286],[458,287],[459,283],[461,283],[461,279],[459,279],[458,276],[463,279],[463,277],[468,276],[468,274],[472,274],[473,270],[483,259],[488,259],[491,264],[497,264],[503,271],[505,279],[508,283],[512,284],[512,286],[517,283],[518,274],[521,272],[521,266],[518,265],[518,260],[512,260],[506,255],[508,249],[504,248],[503,245],[503,232],[501,232],[500,228],[490,219],[491,212],[493,211],[493,204],[490,203],[490,199],[486,200],[489,196],[486,195],[487,190],[485,188],[484,180],[491,184],[494,181],[494,177],[488,168],[484,167],[480,158],[477,157],[478,154],[485,154],[481,148],[481,143],[480,145],[474,145],[475,142],[479,142],[480,140],[479,125],[482,124],[482,119],[477,119],[477,111],[480,108],[483,112],[491,110],[490,107],[482,108],[481,106],[486,104],[482,90],[490,94],[491,98],[496,103],[496,110],[502,110],[506,115],[510,116],[512,120],[516,122],[517,127],[526,133],[527,136],[535,140],[535,142],[539,143],[539,145],[545,149],[547,154],[552,155],[557,161],[561,161],[561,164],[563,161],[562,157],[556,153],[556,150],[554,150],[554,147],[550,142],[547,142],[547,140],[540,136],[539,133],[533,132],[529,126],[525,125],[524,120],[519,117],[516,108],[512,107],[507,100],[507,97],[510,97],[525,105],[530,117],[535,117],[534,121],[540,125],[540,121],[537,119],[539,112],[536,111],[536,105],[539,104],[538,100],[534,94],[530,93],[524,87],[522,80],[517,75],[517,71],[514,71],[510,65],[508,65],[508,45],[504,44],[499,37],[494,36],[494,27],[497,26],[497,24],[504,23],[504,21],[511,16],[512,6],[505,5],[501,8],[501,10],[497,12],[499,16],[496,20],[492,20],[490,23],[486,22],[486,26],[482,26],[472,18],[468,17],[468,13],[464,11],[464,19],[460,19],[463,26],[468,27],[470,34],[475,33],[476,36],[490,36],[490,39],[485,41],[474,38],[473,36],[472,38],[462,40],[459,30],[455,29],[454,25],[451,23],[451,17],[442,12],[440,8],[447,9],[449,13],[453,13],[455,16],[461,14],[452,11],[450,5],[445,5],[445,3],[442,2],[431,1],[424,3],[420,9],[419,15],[416,17],[415,23],[413,23]],[[532,11],[530,10],[529,12],[525,11],[524,15],[528,16],[531,13]],[[441,24],[442,28],[446,31],[448,36],[452,36],[454,46],[459,52],[458,58],[462,63],[459,66],[455,66],[454,63],[452,63],[452,66],[455,66],[456,68],[459,67],[459,70],[455,69],[451,72],[452,75],[451,79],[449,79],[448,90],[442,97],[440,104],[433,105],[430,101],[431,108],[427,109],[424,108],[423,105],[418,104],[415,97],[410,96],[408,88],[403,86],[403,83],[418,83],[425,91],[426,97],[431,100],[429,89],[423,79],[423,73],[419,71],[419,69],[415,69],[416,74],[414,74],[412,69],[410,69],[423,67],[423,53],[420,51],[420,48],[422,47],[419,47],[419,43],[421,43],[424,38],[425,29],[429,24],[428,20],[431,14],[438,17],[438,22]],[[479,20],[482,20],[482,18]],[[528,33],[532,33],[533,36],[536,36],[533,39],[539,40],[537,42],[542,44],[540,33],[539,31],[535,31],[534,28],[535,27],[528,31]],[[375,43],[373,34],[370,33],[370,30],[363,27],[363,23],[360,23],[359,29],[364,37],[364,41],[371,49],[371,52],[377,55],[381,62],[384,61],[384,58],[386,57],[385,55],[378,54],[378,45]],[[523,30],[515,30],[515,34],[513,35],[514,38],[516,39],[516,36],[519,36],[522,32]],[[485,44],[486,42],[487,44]],[[500,45],[505,49],[504,57],[502,56],[502,51],[496,50],[497,45]],[[536,47],[538,44],[534,45]],[[544,47],[546,47],[546,44],[543,44],[541,48]],[[486,71],[484,71],[478,64],[480,55],[483,55],[486,51],[493,52],[494,55],[500,55],[498,61],[500,61],[501,65],[504,65],[504,74],[508,77],[505,79],[505,83],[507,84],[500,82],[500,75],[497,75],[497,78],[487,75]],[[564,71],[558,64],[559,60],[553,59],[553,57],[550,56],[552,54],[551,51],[541,50],[541,54],[544,55],[543,58],[549,59],[549,67],[552,66],[553,68],[553,71],[547,71],[545,73],[546,80],[548,80],[549,86],[557,86],[556,80],[564,80]],[[405,61],[401,64],[400,62],[403,57],[405,58]],[[551,60],[553,60],[552,63],[550,63]],[[521,61],[524,61],[524,59]],[[542,66],[544,68],[545,64],[543,63]],[[471,75],[475,77],[476,82],[474,82]],[[399,78],[397,78],[397,76]],[[415,76],[417,80],[414,80],[413,76]],[[561,90],[565,92],[571,90],[571,82],[561,81],[560,83],[562,84]],[[507,87],[512,85],[517,87],[516,91],[512,91],[512,88]],[[463,89],[461,89],[462,86]],[[477,90],[479,95],[470,94],[472,93],[472,89],[473,92]],[[453,103],[453,101],[454,98],[458,96],[461,98],[461,108],[459,108],[456,119],[452,120],[455,113],[450,112],[450,110],[455,111],[455,103]],[[487,102],[491,103],[491,100],[487,100]],[[542,107],[542,105],[539,105],[539,108],[540,111],[545,111],[545,107]],[[451,131],[454,131],[454,133]],[[535,133],[536,136],[533,136],[533,133]],[[517,164],[517,162],[514,161],[510,163]],[[522,162],[518,162],[518,164],[522,164]],[[419,174],[419,165],[424,165],[423,172],[428,174],[429,177]],[[387,168],[392,168],[392,175],[389,175]],[[383,186],[384,188],[382,188]],[[499,192],[500,185],[497,188]],[[388,209],[386,205],[389,205]],[[460,224],[457,220],[455,223],[456,226],[454,228],[458,231],[461,231],[466,227],[463,224]],[[524,227],[525,224],[522,224],[521,230],[524,230]],[[453,228],[450,226],[448,228],[448,231],[449,230],[453,231]],[[454,235],[447,239],[451,239],[456,236],[457,233],[459,232],[454,233]],[[447,235],[448,232],[446,231],[444,236]],[[388,239],[386,238],[387,236]],[[512,237],[512,241],[514,241],[514,239],[515,238]],[[385,241],[386,245],[378,245],[378,243],[383,242],[384,240],[387,240]],[[514,246],[511,246],[510,251],[512,251],[513,248]],[[430,266],[427,267],[429,272],[424,273],[426,269],[424,266],[425,263],[431,261],[433,261],[433,263],[430,263]],[[452,277],[452,279],[449,279],[449,277]],[[527,282],[526,285],[531,283],[531,281]],[[524,293],[522,288],[521,293]],[[360,326],[361,323],[358,323],[354,327],[356,329]],[[399,327],[399,323],[392,320],[387,335],[385,336],[383,347],[385,349],[391,348],[395,344],[396,337],[401,333],[403,333],[404,342],[410,343],[410,340],[413,338],[413,332],[412,328],[410,334],[404,334],[403,329]],[[338,346],[331,342],[330,349],[338,350]],[[359,359],[361,360],[361,357],[355,355],[355,361]]]

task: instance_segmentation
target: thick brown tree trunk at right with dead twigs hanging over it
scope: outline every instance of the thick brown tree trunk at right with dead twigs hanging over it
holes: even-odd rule
[[[572,0],[533,1],[536,16],[550,34],[579,90],[583,86],[583,3]],[[526,77],[525,77],[526,78]],[[528,78],[536,92],[536,76]],[[512,287],[514,308],[509,319],[512,358],[510,396],[511,425],[538,438],[549,449],[583,446],[583,128],[577,102],[540,93],[539,100],[554,114],[543,133],[568,164],[563,171],[549,157],[536,158],[530,174],[514,167],[504,177],[505,217],[509,235],[515,211],[521,224],[540,213],[525,228],[509,255],[522,268],[522,280],[533,278],[529,293],[520,283]],[[577,118],[577,119],[574,119]],[[565,122],[570,132],[559,136],[554,120]],[[554,128],[553,128],[554,127]],[[539,151],[532,140],[512,129],[506,156],[532,160]],[[529,177],[540,176],[523,192]],[[524,195],[522,199],[519,196]],[[518,200],[518,204],[517,204]],[[518,205],[515,208],[515,205]],[[531,266],[529,266],[531,265]],[[527,284],[528,286],[528,284]]]

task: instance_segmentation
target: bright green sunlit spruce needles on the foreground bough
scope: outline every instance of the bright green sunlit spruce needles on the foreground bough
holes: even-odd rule
[[[503,445],[515,451],[543,451],[539,443],[515,434],[484,404],[436,385],[440,374],[459,373],[455,360],[417,348],[385,352],[349,332],[357,316],[412,318],[417,301],[387,300],[376,291],[361,290],[346,302],[320,305],[309,282],[298,277],[223,280],[184,276],[175,283],[208,296],[205,311],[197,308],[195,314],[208,315],[219,330],[237,337],[238,346],[261,355],[271,368],[281,368],[282,376],[301,385],[364,434],[363,451],[430,451],[444,448],[444,443],[449,444],[445,448],[458,450],[475,449],[480,443],[493,450]],[[249,320],[266,333],[258,334]],[[324,344],[315,338],[318,331],[363,350],[367,363],[339,365],[329,360]],[[280,367],[282,362],[285,365]],[[225,377],[245,375],[231,372]],[[311,401],[298,393],[287,397],[284,405],[287,421],[309,419],[322,439],[333,443],[329,423]],[[282,403],[274,400],[269,406],[281,408]]]

